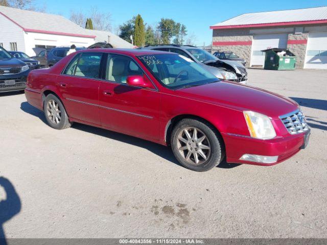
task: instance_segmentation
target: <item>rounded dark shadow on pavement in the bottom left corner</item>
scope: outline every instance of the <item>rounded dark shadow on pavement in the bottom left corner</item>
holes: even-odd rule
[[[1,176],[0,188],[5,191],[5,197],[0,197],[0,244],[5,245],[7,242],[4,223],[20,212],[21,203],[15,187],[8,179]]]

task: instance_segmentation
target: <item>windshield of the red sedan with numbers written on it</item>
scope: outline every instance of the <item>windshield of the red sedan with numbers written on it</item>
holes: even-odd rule
[[[177,54],[142,55],[138,59],[165,87],[178,89],[219,80],[193,60]]]

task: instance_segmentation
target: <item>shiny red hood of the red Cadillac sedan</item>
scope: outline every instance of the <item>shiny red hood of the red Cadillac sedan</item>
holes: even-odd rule
[[[295,111],[298,104],[282,95],[229,81],[175,90],[178,96],[239,111],[250,110],[272,118]]]

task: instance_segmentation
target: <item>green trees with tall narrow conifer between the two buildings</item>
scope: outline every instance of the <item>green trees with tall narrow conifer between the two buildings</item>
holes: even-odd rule
[[[161,18],[157,26],[144,23],[141,15],[134,16],[119,26],[119,36],[136,46],[155,44],[193,44],[191,38],[186,39],[186,26],[169,18]],[[192,36],[191,36],[192,37]]]

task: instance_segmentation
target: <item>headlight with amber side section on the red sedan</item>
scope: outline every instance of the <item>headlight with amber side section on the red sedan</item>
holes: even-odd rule
[[[275,129],[268,116],[253,111],[243,111],[243,113],[251,137],[272,139],[276,136]]]

